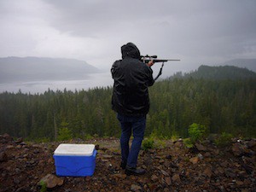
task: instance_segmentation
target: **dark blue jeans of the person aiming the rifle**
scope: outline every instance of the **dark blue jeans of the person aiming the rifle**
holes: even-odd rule
[[[117,118],[119,119],[122,129],[120,137],[122,161],[129,167],[136,167],[137,157],[143,143],[146,127],[146,115],[132,117],[118,113]],[[129,140],[131,137],[131,131],[133,133],[133,140],[130,149]]]

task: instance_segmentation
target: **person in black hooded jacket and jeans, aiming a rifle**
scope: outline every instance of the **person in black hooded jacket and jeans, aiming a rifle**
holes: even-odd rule
[[[132,43],[121,47],[122,60],[111,68],[113,83],[112,108],[118,113],[122,133],[120,137],[121,167],[127,175],[142,175],[145,170],[137,168],[137,157],[143,142],[146,114],[149,110],[148,86],[154,84],[153,71],[140,60],[140,51]],[[129,140],[133,133],[131,149]]]

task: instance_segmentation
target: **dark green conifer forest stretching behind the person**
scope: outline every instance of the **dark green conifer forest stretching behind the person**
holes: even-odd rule
[[[0,134],[32,141],[119,137],[119,122],[111,109],[112,90],[3,92]],[[145,135],[189,137],[189,125],[196,123],[209,133],[256,137],[255,94],[256,74],[247,69],[201,66],[193,73],[177,73],[149,88]]]

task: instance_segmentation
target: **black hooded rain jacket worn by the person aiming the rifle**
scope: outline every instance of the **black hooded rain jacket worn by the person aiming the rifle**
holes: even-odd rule
[[[154,84],[153,71],[140,61],[140,51],[132,43],[121,47],[122,60],[111,68],[113,83],[112,108],[127,116],[148,113],[148,86]]]

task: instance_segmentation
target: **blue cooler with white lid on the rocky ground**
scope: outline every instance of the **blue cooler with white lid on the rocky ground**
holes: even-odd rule
[[[62,143],[53,155],[57,176],[92,176],[96,167],[94,144]]]

